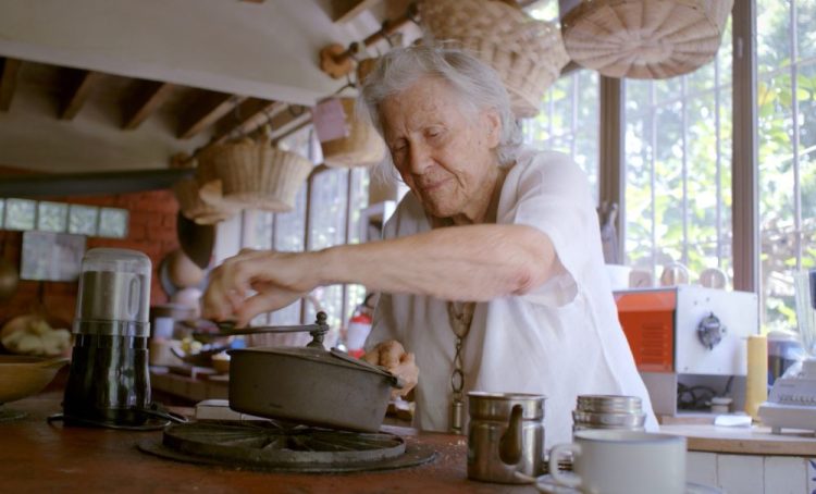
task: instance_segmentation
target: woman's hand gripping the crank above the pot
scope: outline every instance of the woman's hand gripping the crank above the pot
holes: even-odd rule
[[[316,270],[309,252],[244,249],[210,273],[203,317],[221,321],[234,316],[236,326],[245,326],[255,316],[308,294],[318,285]]]

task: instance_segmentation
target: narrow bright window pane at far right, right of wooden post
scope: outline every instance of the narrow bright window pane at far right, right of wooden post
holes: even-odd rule
[[[816,1],[757,0],[765,325],[795,329],[793,272],[816,267]]]

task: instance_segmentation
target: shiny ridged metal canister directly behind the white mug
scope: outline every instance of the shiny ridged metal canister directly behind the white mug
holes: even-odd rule
[[[646,413],[636,396],[580,395],[572,421],[572,432],[586,429],[643,431]]]

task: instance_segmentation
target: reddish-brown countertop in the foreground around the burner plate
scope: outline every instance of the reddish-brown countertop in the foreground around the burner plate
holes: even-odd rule
[[[531,485],[467,480],[466,439],[424,433],[436,459],[401,470],[345,474],[264,473],[202,467],[157,458],[136,448],[161,432],[49,425],[61,411],[61,392],[3,405],[27,417],[0,422],[0,485],[3,492],[292,492],[292,493],[533,493]],[[409,441],[411,439],[409,437]]]

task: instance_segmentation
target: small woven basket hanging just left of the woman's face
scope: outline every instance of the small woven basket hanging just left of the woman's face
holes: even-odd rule
[[[371,166],[385,158],[385,143],[370,124],[355,119],[355,99],[341,98],[346,114],[348,135],[320,143],[327,166]]]

